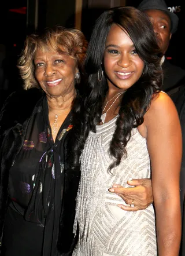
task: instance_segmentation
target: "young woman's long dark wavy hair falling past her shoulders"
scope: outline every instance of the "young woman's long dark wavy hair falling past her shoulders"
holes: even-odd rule
[[[101,122],[102,105],[108,92],[108,83],[106,74],[98,81],[98,70],[103,68],[105,42],[112,24],[118,24],[127,32],[139,57],[145,63],[145,68],[139,81],[127,89],[121,98],[116,130],[110,142],[110,154],[114,157],[114,162],[109,166],[109,170],[119,165],[123,156],[127,157],[125,147],[131,137],[131,130],[143,123],[143,116],[150,107],[151,98],[160,90],[162,83],[162,55],[153,26],[146,14],[132,7],[113,8],[101,14],[92,32],[84,61],[88,75],[88,82],[84,86],[84,100],[76,101],[73,110],[69,157],[73,169],[79,167],[79,156],[89,131],[95,133],[97,124]]]

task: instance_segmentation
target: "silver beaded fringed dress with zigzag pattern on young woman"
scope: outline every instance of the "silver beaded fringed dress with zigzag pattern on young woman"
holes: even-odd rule
[[[127,158],[108,171],[113,159],[110,140],[116,118],[90,132],[81,156],[81,180],[77,194],[76,225],[79,240],[73,256],[156,256],[156,228],[153,206],[129,212],[117,204],[123,200],[108,191],[114,183],[128,187],[134,178],[150,178],[150,159],[146,139],[132,129]]]

